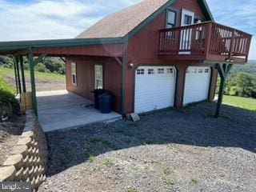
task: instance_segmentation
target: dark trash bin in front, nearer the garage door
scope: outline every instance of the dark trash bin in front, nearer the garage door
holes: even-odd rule
[[[113,95],[109,92],[98,96],[99,110],[102,114],[110,114],[112,111]]]

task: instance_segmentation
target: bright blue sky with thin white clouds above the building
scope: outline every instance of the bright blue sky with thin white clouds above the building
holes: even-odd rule
[[[215,22],[256,36],[256,0],[206,0]],[[0,0],[0,41],[74,38],[141,0]],[[256,60],[256,37],[250,48]]]

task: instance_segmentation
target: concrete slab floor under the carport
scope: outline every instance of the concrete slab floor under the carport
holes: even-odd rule
[[[38,92],[37,98],[38,118],[45,132],[122,118],[115,112],[101,114],[93,102],[66,90]]]

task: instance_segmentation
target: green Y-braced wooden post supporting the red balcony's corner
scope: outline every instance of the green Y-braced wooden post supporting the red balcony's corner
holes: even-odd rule
[[[233,66],[233,64],[228,64],[228,63],[223,63],[223,64],[218,63],[217,64],[218,73],[221,77],[221,83],[220,83],[219,91],[218,91],[218,103],[217,103],[217,109],[216,109],[216,112],[214,115],[215,118],[219,117],[219,113],[220,113],[222,101],[223,101],[224,90],[225,90],[226,77],[230,73],[232,66]]]

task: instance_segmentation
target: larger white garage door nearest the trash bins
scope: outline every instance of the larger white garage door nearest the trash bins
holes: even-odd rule
[[[172,66],[141,66],[135,74],[134,112],[174,106],[175,68]]]

